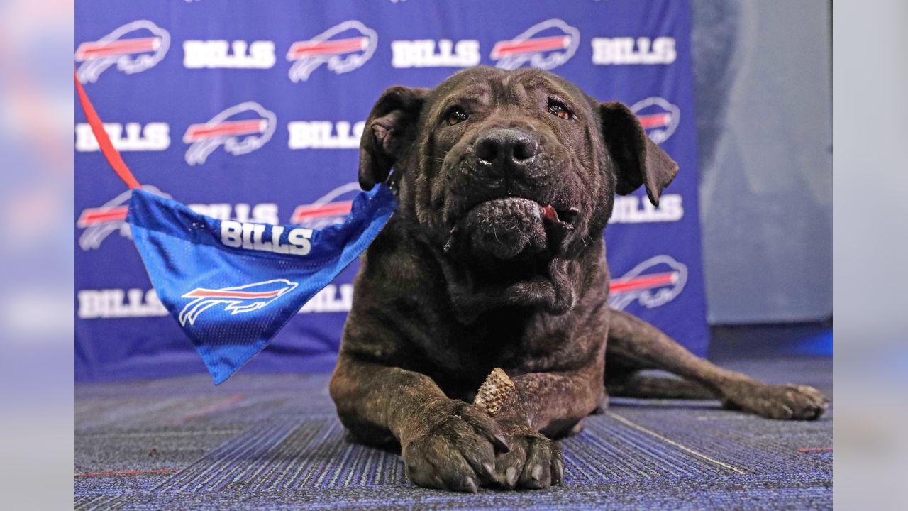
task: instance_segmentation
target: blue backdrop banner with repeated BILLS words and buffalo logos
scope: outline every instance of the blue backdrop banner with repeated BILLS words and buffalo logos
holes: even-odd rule
[[[339,222],[390,85],[536,66],[626,103],[681,171],[657,208],[617,198],[611,304],[706,352],[687,2],[82,0],[75,21],[78,78],[143,188],[219,219]],[[130,193],[76,111],[76,376],[202,372],[129,239]],[[330,370],[356,266],[248,370]]]

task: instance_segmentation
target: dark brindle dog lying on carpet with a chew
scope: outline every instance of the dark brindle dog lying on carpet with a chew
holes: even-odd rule
[[[473,67],[386,90],[359,180],[387,183],[399,206],[361,257],[331,376],[348,439],[400,448],[416,485],[476,492],[561,485],[556,440],[607,394],[821,416],[816,389],[714,366],[609,308],[614,196],[644,186],[658,205],[677,170],[626,105],[546,71]],[[516,395],[493,417],[470,403],[494,367]]]

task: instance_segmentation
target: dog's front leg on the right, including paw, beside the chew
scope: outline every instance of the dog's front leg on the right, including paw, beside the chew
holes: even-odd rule
[[[544,488],[564,482],[561,449],[547,436],[563,436],[582,424],[603,397],[602,376],[602,365],[594,364],[577,372],[511,378],[514,398],[495,416],[510,446],[496,459],[502,486]]]

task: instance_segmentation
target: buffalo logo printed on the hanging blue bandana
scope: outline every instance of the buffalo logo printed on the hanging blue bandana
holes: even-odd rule
[[[199,315],[213,306],[223,306],[223,310],[230,312],[231,316],[259,310],[287,295],[296,286],[298,284],[295,282],[276,278],[246,286],[220,289],[197,287],[183,295],[183,298],[192,298],[192,301],[180,311],[180,325],[186,326],[187,322],[195,325]]]

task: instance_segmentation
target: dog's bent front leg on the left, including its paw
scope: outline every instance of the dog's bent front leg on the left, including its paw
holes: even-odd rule
[[[407,476],[419,486],[476,492],[497,482],[495,452],[507,450],[498,423],[449,399],[429,376],[341,354],[331,398],[354,436],[390,433]]]

